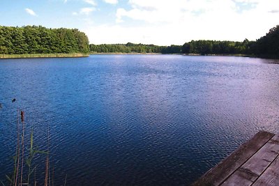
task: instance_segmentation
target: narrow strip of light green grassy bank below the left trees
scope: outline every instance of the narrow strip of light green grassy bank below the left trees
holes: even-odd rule
[[[88,57],[89,54],[70,53],[70,54],[0,54],[0,59],[20,59],[20,58],[72,58]]]

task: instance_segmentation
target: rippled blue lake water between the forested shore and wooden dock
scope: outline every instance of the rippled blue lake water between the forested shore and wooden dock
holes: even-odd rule
[[[279,133],[279,65],[233,56],[0,60],[0,179],[17,108],[54,185],[188,185],[259,130]],[[16,98],[16,102],[11,100]],[[44,177],[45,155],[36,176]],[[51,172],[52,172],[51,168]],[[39,185],[42,180],[38,180]]]

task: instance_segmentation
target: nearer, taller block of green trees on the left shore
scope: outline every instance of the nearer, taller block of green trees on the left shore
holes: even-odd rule
[[[0,54],[88,53],[89,40],[77,29],[0,26]]]

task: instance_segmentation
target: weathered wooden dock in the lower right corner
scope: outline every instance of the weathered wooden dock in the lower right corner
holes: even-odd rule
[[[279,185],[279,135],[258,132],[193,185]]]

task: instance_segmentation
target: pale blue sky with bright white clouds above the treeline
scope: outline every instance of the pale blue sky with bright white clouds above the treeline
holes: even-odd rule
[[[256,40],[279,24],[279,0],[0,0],[1,26],[84,31],[91,44]]]

